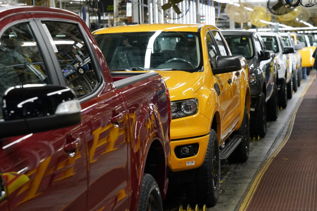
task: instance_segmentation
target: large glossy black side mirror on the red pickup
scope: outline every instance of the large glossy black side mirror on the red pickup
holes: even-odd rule
[[[0,137],[48,131],[81,121],[80,103],[67,87],[12,86],[0,96],[0,104]]]

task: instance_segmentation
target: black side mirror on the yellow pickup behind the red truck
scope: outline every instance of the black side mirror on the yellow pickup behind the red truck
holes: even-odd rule
[[[242,69],[240,59],[237,56],[217,56],[216,66],[216,68],[212,68],[214,75]]]

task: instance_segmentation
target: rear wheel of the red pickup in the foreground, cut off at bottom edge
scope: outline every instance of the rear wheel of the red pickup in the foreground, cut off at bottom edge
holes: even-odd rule
[[[138,211],[163,211],[159,186],[150,174],[143,175]]]

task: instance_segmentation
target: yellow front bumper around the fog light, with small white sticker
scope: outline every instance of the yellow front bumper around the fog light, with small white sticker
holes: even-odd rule
[[[175,141],[171,141],[171,160],[169,163],[169,167],[171,171],[184,171],[189,169],[196,169],[202,166],[204,163],[207,146],[209,141],[209,134],[194,137],[194,138],[184,138],[184,139],[175,139]],[[189,145],[189,144],[198,144],[198,151],[195,156],[178,158],[175,154],[175,148],[181,145]]]

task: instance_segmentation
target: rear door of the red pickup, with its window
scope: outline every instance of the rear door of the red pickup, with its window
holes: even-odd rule
[[[64,43],[56,44],[60,73],[81,102],[87,146],[87,210],[129,209],[127,112],[120,93],[110,84],[106,64],[99,64],[95,54],[99,47],[90,45],[94,38],[79,20],[41,23],[55,43]]]

